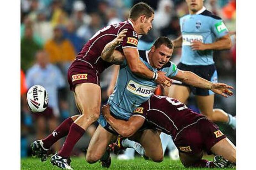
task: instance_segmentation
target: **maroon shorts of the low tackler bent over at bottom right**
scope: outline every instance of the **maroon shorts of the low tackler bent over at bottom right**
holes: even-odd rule
[[[200,118],[191,126],[184,128],[174,139],[174,144],[180,152],[199,154],[202,151],[211,153],[211,148],[226,136],[219,127],[207,118]]]

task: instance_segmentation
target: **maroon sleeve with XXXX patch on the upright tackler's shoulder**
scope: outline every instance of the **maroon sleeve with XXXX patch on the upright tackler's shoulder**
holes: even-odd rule
[[[128,28],[126,36],[124,37],[124,41],[122,43],[122,48],[137,48],[138,42],[139,39],[137,33],[131,28]]]

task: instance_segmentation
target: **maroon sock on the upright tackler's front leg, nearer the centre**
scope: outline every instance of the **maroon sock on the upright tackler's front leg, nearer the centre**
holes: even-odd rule
[[[76,123],[72,123],[70,126],[68,136],[62,145],[62,148],[58,152],[58,155],[62,157],[69,157],[76,142],[84,135],[85,130]]]

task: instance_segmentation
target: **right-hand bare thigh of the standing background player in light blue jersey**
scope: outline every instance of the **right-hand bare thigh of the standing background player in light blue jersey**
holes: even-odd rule
[[[214,94],[208,96],[196,95],[196,103],[201,114],[211,119],[213,114]]]

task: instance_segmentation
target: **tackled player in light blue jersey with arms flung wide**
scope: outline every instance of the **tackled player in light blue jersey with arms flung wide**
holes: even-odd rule
[[[111,107],[111,114],[118,119],[128,120],[135,108],[150,98],[157,86],[154,79],[157,78],[157,74],[163,74],[163,72],[169,78],[178,79],[196,87],[211,89],[213,92],[223,96],[233,94],[229,90],[229,88],[232,88],[231,86],[222,83],[212,83],[190,71],[178,70],[176,65],[169,61],[173,52],[173,46],[171,40],[167,37],[159,37],[148,51],[139,50],[140,60],[149,70],[155,73],[152,80],[142,79],[132,73],[126,64],[124,55],[114,50],[118,45],[118,41],[122,40],[115,39],[108,43],[101,53],[101,57],[105,61],[120,64],[116,87],[108,100]],[[95,163],[101,159],[101,161],[103,160],[109,165],[109,154],[107,152],[106,154],[104,153],[109,142],[115,139],[118,134],[102,115],[100,115],[98,122],[100,125],[91,139],[86,160],[89,163]],[[147,129],[146,127],[146,130],[141,129],[132,139],[144,147],[147,157],[155,162],[163,160],[161,140],[157,131]]]

